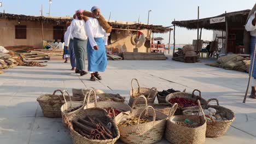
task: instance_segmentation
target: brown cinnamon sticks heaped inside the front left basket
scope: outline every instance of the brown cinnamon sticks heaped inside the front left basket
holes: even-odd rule
[[[90,140],[108,140],[115,137],[115,134],[111,132],[112,130],[108,129],[107,124],[99,118],[86,116],[83,119],[79,118],[77,121],[72,121],[72,123],[75,131]]]

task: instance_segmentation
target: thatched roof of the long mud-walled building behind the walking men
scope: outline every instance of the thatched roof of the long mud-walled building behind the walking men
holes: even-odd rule
[[[28,15],[17,15],[17,14],[4,14],[0,13],[0,19],[8,19],[8,20],[20,20],[20,21],[38,21],[38,22],[50,22],[57,24],[64,24],[68,21],[72,21],[71,17],[47,17],[47,16],[28,16]],[[145,25],[142,23],[132,23],[126,25],[124,23],[117,22],[108,22],[110,26],[113,28],[121,28],[121,29],[150,29],[153,33],[166,33],[170,31],[170,28],[163,26],[155,26],[155,25]],[[172,30],[172,29],[171,29]]]

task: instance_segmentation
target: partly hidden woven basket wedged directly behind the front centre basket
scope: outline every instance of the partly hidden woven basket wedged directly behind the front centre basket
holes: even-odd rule
[[[136,105],[136,102],[138,99],[144,99],[144,105]],[[141,109],[141,107],[145,107],[145,106],[152,106],[155,110],[158,110],[162,113],[164,113],[165,115],[168,115],[170,110],[171,110],[171,104],[148,104],[147,103],[147,98],[144,95],[139,95],[139,97],[137,97],[135,99],[135,101],[133,101],[132,104],[132,109]]]

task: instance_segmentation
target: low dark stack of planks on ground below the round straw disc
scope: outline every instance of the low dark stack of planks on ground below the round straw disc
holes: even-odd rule
[[[124,52],[124,60],[166,60],[164,53]]]

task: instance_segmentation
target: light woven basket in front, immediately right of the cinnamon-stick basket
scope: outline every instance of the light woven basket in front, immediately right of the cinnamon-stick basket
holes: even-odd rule
[[[150,109],[149,109],[150,108]],[[152,122],[130,125],[130,126],[118,126],[120,131],[120,140],[125,143],[155,143],[162,139],[164,135],[166,118],[164,113],[155,111],[152,106],[147,106],[145,109],[132,109],[129,112],[121,112],[115,117],[115,122],[120,124],[128,118],[142,116],[142,113],[147,110],[148,116],[153,117]],[[138,121],[139,122],[139,121]]]

